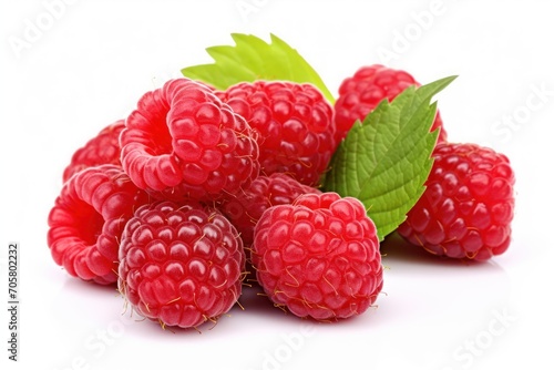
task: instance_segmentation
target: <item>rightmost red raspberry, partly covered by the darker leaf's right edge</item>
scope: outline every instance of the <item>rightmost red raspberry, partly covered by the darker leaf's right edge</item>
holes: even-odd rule
[[[439,144],[427,189],[398,233],[438,256],[486,260],[506,250],[514,215],[510,161],[476,144]]]

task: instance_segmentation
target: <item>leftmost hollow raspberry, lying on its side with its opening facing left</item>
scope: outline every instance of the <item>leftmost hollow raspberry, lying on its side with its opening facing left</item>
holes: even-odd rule
[[[121,233],[148,202],[119,166],[85,168],[63,185],[48,217],[48,246],[71,276],[98,284],[117,280]]]

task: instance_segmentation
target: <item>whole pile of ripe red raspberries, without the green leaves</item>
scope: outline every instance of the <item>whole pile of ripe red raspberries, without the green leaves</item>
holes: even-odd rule
[[[217,91],[171,80],[74,153],[48,217],[52,258],[117,286],[163,328],[215,322],[252,284],[300,318],[361,315],[383,286],[376,225],[360,201],[321,182],[353,122],[410,85],[404,71],[363,66],[331,105],[307,83]],[[509,160],[450,143],[439,114],[431,130],[440,135],[427,191],[397,233],[437,256],[502,254]]]

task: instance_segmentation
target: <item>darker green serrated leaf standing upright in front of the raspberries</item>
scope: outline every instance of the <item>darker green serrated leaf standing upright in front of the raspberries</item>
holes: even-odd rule
[[[418,202],[432,167],[439,131],[430,132],[437,103],[431,99],[455,76],[409,88],[356,122],[339,145],[325,189],[360,199],[382,240]]]

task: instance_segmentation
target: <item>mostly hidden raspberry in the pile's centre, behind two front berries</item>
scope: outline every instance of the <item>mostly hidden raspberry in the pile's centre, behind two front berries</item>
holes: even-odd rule
[[[298,196],[309,193],[320,192],[287,174],[274,173],[256,178],[244,193],[224,202],[222,210],[240,233],[245,247],[249,248],[254,241],[254,227],[267,208],[291,204]]]

